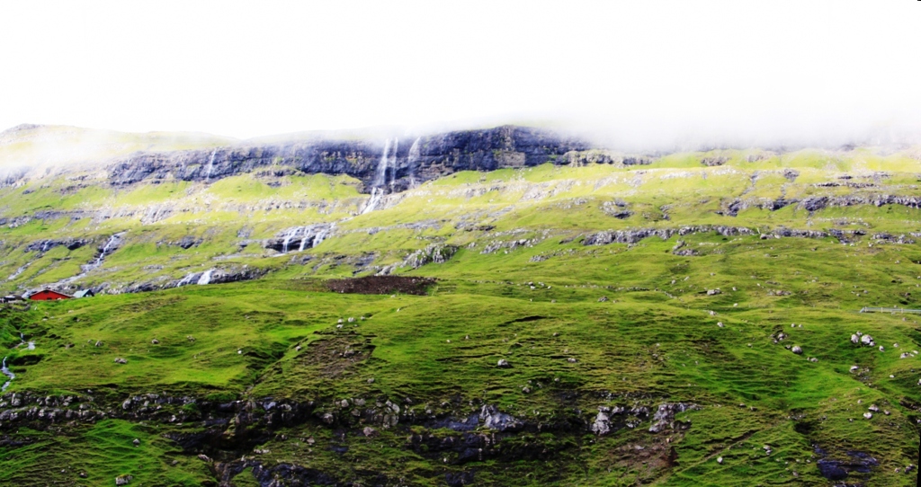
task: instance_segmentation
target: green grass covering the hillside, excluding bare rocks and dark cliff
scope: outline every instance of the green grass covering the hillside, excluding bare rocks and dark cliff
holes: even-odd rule
[[[99,296],[0,308],[0,342],[17,376],[8,393],[91,396],[93,408],[115,412],[90,423],[0,421],[0,440],[9,440],[0,443],[0,483],[99,485],[130,474],[131,485],[216,485],[229,471],[221,469],[250,461],[362,485],[444,485],[465,473],[482,485],[827,485],[818,446],[826,458],[846,460],[855,451],[876,458],[879,465],[848,482],[915,485],[916,470],[896,470],[917,462],[921,356],[912,351],[921,349],[921,316],[857,311],[921,307],[921,246],[874,237],[921,240],[911,235],[921,232],[921,210],[724,210],[736,199],[917,197],[921,164],[869,149],[764,153],[747,162],[756,153],[679,154],[631,168],[463,172],[367,215],[358,215],[367,195],[356,180],[322,175],[248,174],[118,191],[90,185],[76,196],[55,192],[63,179],[44,181],[46,188],[33,182],[37,191],[25,197],[21,188],[0,189],[8,219],[49,208],[87,212],[0,227],[0,275],[26,266],[6,281],[10,291],[76,275],[109,236],[124,232],[122,247],[77,281],[102,289]],[[727,162],[707,168],[704,157]],[[799,172],[796,180],[784,175],[788,168]],[[875,186],[818,186],[845,174]],[[169,211],[148,218],[154,207]],[[613,207],[631,215],[614,217]],[[279,255],[262,248],[260,239],[321,222],[337,222],[336,231],[316,249]],[[600,230],[692,225],[865,235],[842,244],[706,230],[632,245],[582,244]],[[25,251],[48,238],[91,242]],[[200,243],[181,249],[181,238]],[[695,255],[672,253],[678,240]],[[433,244],[458,250],[445,263],[399,267]],[[394,264],[400,275],[437,284],[426,296],[342,295],[324,285]],[[244,265],[267,274],[106,292]],[[707,295],[717,288],[720,294]],[[856,331],[877,345],[853,344]],[[780,332],[787,338],[775,342]],[[793,345],[803,354],[786,348]],[[497,367],[500,359],[512,366]],[[188,401],[163,406],[158,419],[121,416],[122,401],[142,394]],[[297,423],[262,424],[264,435],[251,443],[245,422],[214,426],[208,422],[216,413],[199,410],[242,400],[258,412],[266,398],[312,409]],[[391,400],[400,423],[324,423],[327,412],[354,417],[356,399],[376,411]],[[0,410],[12,408],[11,396],[4,401]],[[677,402],[699,409],[679,413],[680,423],[659,433],[649,432],[649,420],[609,435],[589,430],[600,407],[655,412]],[[494,436],[480,423],[471,435],[495,437],[495,455],[469,458],[432,446],[466,440],[424,418],[462,420],[484,405],[529,427]],[[880,411],[867,420],[870,405]],[[374,435],[361,434],[366,425]],[[219,428],[223,446],[183,450],[170,439],[209,428]],[[420,438],[429,443],[419,446]],[[254,464],[247,465],[230,476],[233,485],[258,484]]]

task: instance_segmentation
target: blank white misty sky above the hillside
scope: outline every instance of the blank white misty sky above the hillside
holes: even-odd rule
[[[0,4],[0,130],[921,133],[921,2]]]

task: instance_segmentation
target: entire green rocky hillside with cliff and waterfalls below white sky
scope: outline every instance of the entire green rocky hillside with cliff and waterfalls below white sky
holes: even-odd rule
[[[0,305],[0,484],[917,484],[921,147],[24,125],[0,162],[2,295],[96,295]]]

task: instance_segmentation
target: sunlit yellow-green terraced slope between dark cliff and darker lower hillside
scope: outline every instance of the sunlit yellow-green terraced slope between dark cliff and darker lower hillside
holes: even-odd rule
[[[388,196],[380,211],[365,215],[367,195],[344,176],[269,168],[204,184],[119,189],[104,175],[61,175],[0,189],[6,222],[0,227],[0,275],[19,291],[79,275],[65,287],[119,292],[132,284],[174,285],[211,268],[278,269],[287,259],[263,259],[278,256],[263,249],[265,239],[318,223],[336,226],[320,246],[298,255],[363,255],[350,262],[360,261],[366,272],[430,243],[482,246],[609,229],[786,226],[911,239],[908,234],[921,232],[921,163],[912,154],[882,157],[861,149],[753,157],[751,151],[719,151],[661,157],[641,167],[547,164],[462,172]],[[701,164],[715,157],[725,159],[722,166]],[[114,234],[122,235],[119,251],[81,272]],[[73,250],[41,246],[75,239],[81,245]],[[314,259],[305,269],[322,267]]]

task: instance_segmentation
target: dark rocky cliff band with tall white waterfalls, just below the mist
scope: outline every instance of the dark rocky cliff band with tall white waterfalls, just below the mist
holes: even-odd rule
[[[494,170],[567,163],[564,155],[589,148],[584,142],[528,127],[503,126],[388,141],[311,140],[215,150],[137,153],[109,167],[113,185],[142,180],[218,180],[257,168],[293,168],[308,174],[347,174],[402,191],[461,170]],[[386,152],[386,154],[385,154]]]

